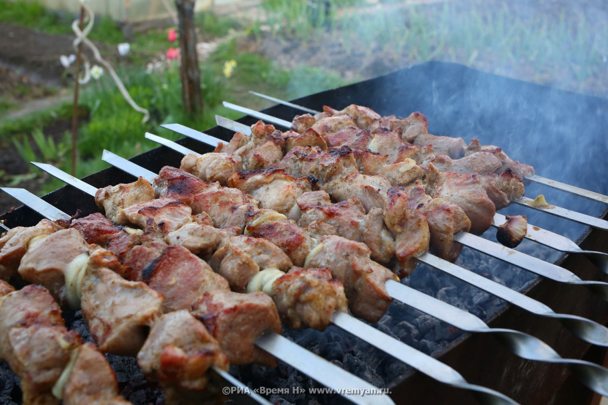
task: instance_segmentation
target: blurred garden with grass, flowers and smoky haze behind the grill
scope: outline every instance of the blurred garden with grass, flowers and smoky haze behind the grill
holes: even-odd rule
[[[176,1],[88,1],[95,13],[88,38],[150,112],[142,123],[103,66],[80,85],[74,110],[72,22],[80,3],[0,0],[0,185],[39,195],[61,186],[28,162],[71,170],[74,111],[75,175],[83,177],[107,166],[104,148],[131,157],[156,147],[145,131],[175,139],[163,123],[204,130],[215,126],[215,114],[238,117],[223,100],[271,105],[249,90],[291,100],[430,60],[608,97],[604,0],[179,2],[193,6],[200,69],[202,102],[190,114],[182,102]],[[98,64],[90,50],[83,53],[91,67]],[[2,193],[0,212],[13,203]]]

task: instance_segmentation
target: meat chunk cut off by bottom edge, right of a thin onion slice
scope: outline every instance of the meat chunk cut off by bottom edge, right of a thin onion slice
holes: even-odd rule
[[[130,404],[118,395],[114,370],[95,345],[85,343],[72,354],[71,371],[63,385],[64,405]]]

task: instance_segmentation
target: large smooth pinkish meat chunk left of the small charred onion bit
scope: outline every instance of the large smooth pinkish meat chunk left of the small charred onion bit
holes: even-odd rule
[[[455,203],[471,220],[471,233],[480,235],[491,225],[496,207],[488,197],[486,182],[478,174],[440,173],[431,163],[426,192],[430,197]]]

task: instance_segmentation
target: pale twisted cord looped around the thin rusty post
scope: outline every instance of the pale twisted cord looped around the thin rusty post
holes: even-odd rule
[[[84,30],[80,30],[80,22],[78,20],[74,20],[74,22],[72,22],[72,31],[74,31],[76,35],[76,39],[74,39],[74,43],[72,43],[74,45],[74,48],[77,48],[78,44],[83,43],[84,45],[88,46],[89,49],[92,50],[93,55],[95,56],[95,60],[97,60],[106,68],[106,70],[108,70],[110,76],[112,77],[112,80],[114,80],[114,83],[116,83],[116,87],[118,87],[120,94],[122,94],[122,97],[125,98],[126,102],[129,103],[135,111],[141,112],[143,114],[142,123],[146,123],[148,120],[150,120],[150,112],[147,109],[138,106],[137,103],[133,101],[133,98],[131,98],[131,95],[126,90],[125,85],[122,84],[122,81],[114,71],[114,68],[112,68],[112,65],[102,58],[102,55],[95,46],[95,44],[92,43],[90,39],[86,38],[93,29],[93,24],[95,22],[95,13],[93,13],[91,7],[86,4],[86,0],[78,1],[80,2],[81,7],[84,7],[84,9],[86,10],[86,13],[88,14],[88,21]],[[83,72],[83,75],[78,78],[78,82],[81,84],[85,84],[88,83],[89,80],[91,80],[91,72],[89,70],[90,64],[86,55],[82,54],[81,56],[84,60],[85,70]]]

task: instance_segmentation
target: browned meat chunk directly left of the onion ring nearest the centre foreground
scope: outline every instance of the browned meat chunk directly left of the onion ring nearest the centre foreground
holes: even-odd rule
[[[213,253],[211,267],[223,276],[233,291],[247,291],[247,284],[255,274],[272,267],[285,271],[291,260],[273,243],[250,236],[224,239]]]

